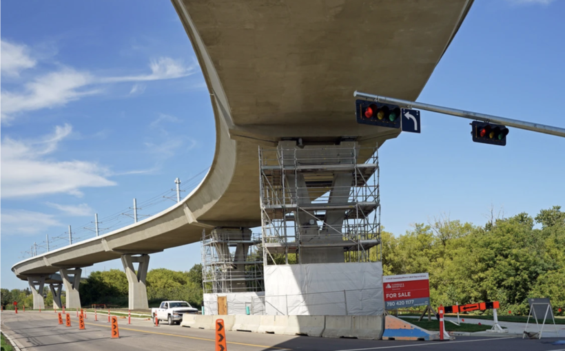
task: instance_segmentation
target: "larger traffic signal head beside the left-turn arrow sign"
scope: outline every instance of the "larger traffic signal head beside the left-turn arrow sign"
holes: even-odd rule
[[[356,100],[355,107],[357,123],[362,125],[400,128],[400,107],[397,105]]]

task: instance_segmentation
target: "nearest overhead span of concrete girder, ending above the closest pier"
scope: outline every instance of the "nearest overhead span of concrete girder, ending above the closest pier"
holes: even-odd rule
[[[272,142],[394,138],[354,122],[353,91],[417,98],[472,1],[172,3],[230,136]]]

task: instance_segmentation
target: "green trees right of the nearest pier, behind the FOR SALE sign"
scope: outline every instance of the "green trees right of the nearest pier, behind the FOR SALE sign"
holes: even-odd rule
[[[528,298],[549,297],[565,315],[565,212],[553,206],[482,226],[442,216],[404,235],[384,231],[382,267],[384,275],[428,272],[432,306],[500,301],[500,312],[527,315]]]

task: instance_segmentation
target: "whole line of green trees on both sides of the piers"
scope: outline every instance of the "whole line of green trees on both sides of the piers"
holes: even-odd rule
[[[377,259],[376,248],[369,254]],[[535,217],[492,217],[484,225],[442,216],[403,235],[383,231],[382,267],[384,275],[428,272],[432,306],[500,301],[500,312],[527,315],[528,298],[549,297],[555,314],[565,315],[565,212],[553,206]],[[153,269],[146,282],[150,306],[167,299],[202,305],[201,264],[185,272]],[[127,306],[123,270],[92,272],[79,291],[83,306]],[[48,288],[45,296],[52,306]],[[29,289],[1,289],[1,300],[3,306],[33,302]]]

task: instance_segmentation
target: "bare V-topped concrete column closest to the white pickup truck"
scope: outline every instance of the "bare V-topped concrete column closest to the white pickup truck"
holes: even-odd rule
[[[127,282],[130,285],[130,310],[149,308],[147,287],[145,286],[145,277],[149,267],[149,255],[122,255],[122,263],[127,276]],[[139,264],[137,273],[134,263]]]

